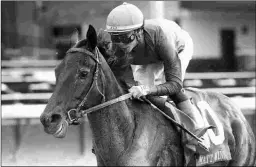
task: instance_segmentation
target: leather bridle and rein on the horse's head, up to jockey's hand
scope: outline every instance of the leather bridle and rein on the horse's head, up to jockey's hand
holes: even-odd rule
[[[96,62],[96,70],[94,72],[94,76],[93,76],[93,82],[91,84],[91,87],[89,88],[87,94],[85,95],[84,99],[81,101],[81,103],[78,105],[77,108],[73,108],[70,109],[67,112],[67,122],[69,125],[77,125],[79,124],[79,119],[82,118],[84,115],[89,114],[93,111],[97,111],[99,109],[102,109],[104,107],[107,107],[109,105],[112,105],[114,103],[126,100],[128,98],[130,98],[132,96],[131,93],[128,94],[124,94],[118,98],[112,99],[110,101],[104,102],[105,101],[105,95],[104,95],[104,87],[102,89],[102,91],[100,91],[100,89],[98,88],[98,84],[97,84],[97,79],[98,79],[98,75],[99,75],[99,66],[101,65],[101,62],[99,60],[99,49],[96,47],[95,48],[95,52],[96,52],[96,56],[94,53],[90,52],[87,49],[84,48],[71,48],[67,51],[67,53],[73,53],[73,52],[80,52],[80,53],[85,53],[86,55],[88,55],[90,58],[92,58],[95,62]],[[95,58],[96,57],[96,58]],[[90,92],[92,91],[94,85],[96,85],[96,88],[98,90],[98,92],[101,94],[101,96],[103,97],[103,103],[96,105],[92,108],[86,109],[86,110],[81,110],[82,107],[84,106],[85,102],[88,100],[88,95],[90,94]]]

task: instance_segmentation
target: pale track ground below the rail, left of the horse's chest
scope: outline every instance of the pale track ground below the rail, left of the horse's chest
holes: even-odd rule
[[[88,125],[88,124],[87,124]],[[13,156],[14,128],[2,126],[2,165],[3,166],[95,166],[96,159],[91,153],[91,133],[86,128],[84,155],[79,150],[79,128],[68,129],[64,139],[57,139],[44,132],[41,124],[21,126],[21,145]]]

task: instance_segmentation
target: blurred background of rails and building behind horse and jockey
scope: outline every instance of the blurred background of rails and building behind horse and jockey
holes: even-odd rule
[[[39,116],[55,87],[54,68],[76,28],[105,28],[123,1],[1,1],[2,165],[96,165],[88,121],[64,139],[47,135]],[[146,19],[178,23],[194,41],[184,86],[222,92],[256,133],[255,1],[131,1]]]

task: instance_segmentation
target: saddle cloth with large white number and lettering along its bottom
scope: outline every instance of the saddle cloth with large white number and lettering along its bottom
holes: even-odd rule
[[[186,115],[184,112],[177,109],[170,102],[166,102],[163,106],[164,99],[161,97],[148,97],[148,99],[155,104],[159,109],[164,111],[167,115],[175,119],[179,124],[193,132],[193,120]],[[161,100],[160,100],[161,99]],[[160,102],[162,101],[162,102]],[[229,161],[231,160],[231,153],[228,146],[228,139],[225,138],[224,128],[214,113],[214,111],[210,108],[210,105],[205,101],[196,102],[196,106],[198,107],[200,114],[203,117],[205,126],[213,125],[216,128],[209,129],[202,136],[204,138],[204,142],[206,142],[209,146],[209,152],[200,149],[199,146],[196,145],[188,145],[188,138],[191,138],[186,132],[178,130],[182,133],[182,142],[185,144],[184,147],[184,155],[185,155],[185,166],[204,166],[213,164],[219,161]],[[167,107],[169,109],[167,109]],[[168,111],[167,111],[168,110]],[[171,110],[171,113],[170,113]],[[172,114],[172,115],[171,115]]]

